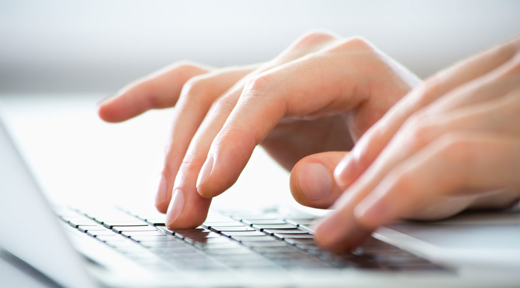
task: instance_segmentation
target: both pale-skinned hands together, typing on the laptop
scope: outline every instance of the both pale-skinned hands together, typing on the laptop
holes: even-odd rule
[[[174,64],[101,102],[99,116],[173,106],[155,199],[172,228],[200,225],[257,145],[291,170],[299,203],[334,209],[315,224],[328,249],[398,219],[520,197],[520,38],[422,81],[365,39],[310,32],[265,63]]]

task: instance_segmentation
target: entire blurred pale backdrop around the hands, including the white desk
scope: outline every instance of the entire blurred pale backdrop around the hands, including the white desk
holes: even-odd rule
[[[426,77],[520,34],[519,11],[515,0],[1,0],[0,110],[55,198],[151,205],[172,111],[99,121],[95,103],[127,82],[184,59],[266,61],[315,28],[364,36]],[[288,173],[259,150],[215,201],[291,201],[288,191]]]

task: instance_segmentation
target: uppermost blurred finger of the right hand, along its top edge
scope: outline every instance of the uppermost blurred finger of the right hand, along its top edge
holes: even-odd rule
[[[434,102],[448,91],[478,78],[509,61],[520,39],[489,49],[447,70],[441,71],[412,90],[374,124],[356,143],[352,153],[334,171],[337,183],[346,188],[376,159],[399,127],[414,112]]]

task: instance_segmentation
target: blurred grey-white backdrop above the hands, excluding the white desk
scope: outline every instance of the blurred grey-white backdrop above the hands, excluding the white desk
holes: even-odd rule
[[[425,77],[520,34],[516,0],[7,1],[2,93],[103,92],[168,63],[269,60],[305,31],[362,35]]]

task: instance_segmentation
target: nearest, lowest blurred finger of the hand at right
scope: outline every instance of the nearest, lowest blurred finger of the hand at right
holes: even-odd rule
[[[520,180],[516,171],[519,169],[520,138],[446,135],[395,167],[356,206],[354,214],[359,223],[374,229],[398,218],[421,215],[421,210],[436,198],[460,196],[461,192],[478,195],[510,187],[516,189],[518,197]],[[458,209],[446,205],[429,216],[443,218]]]

